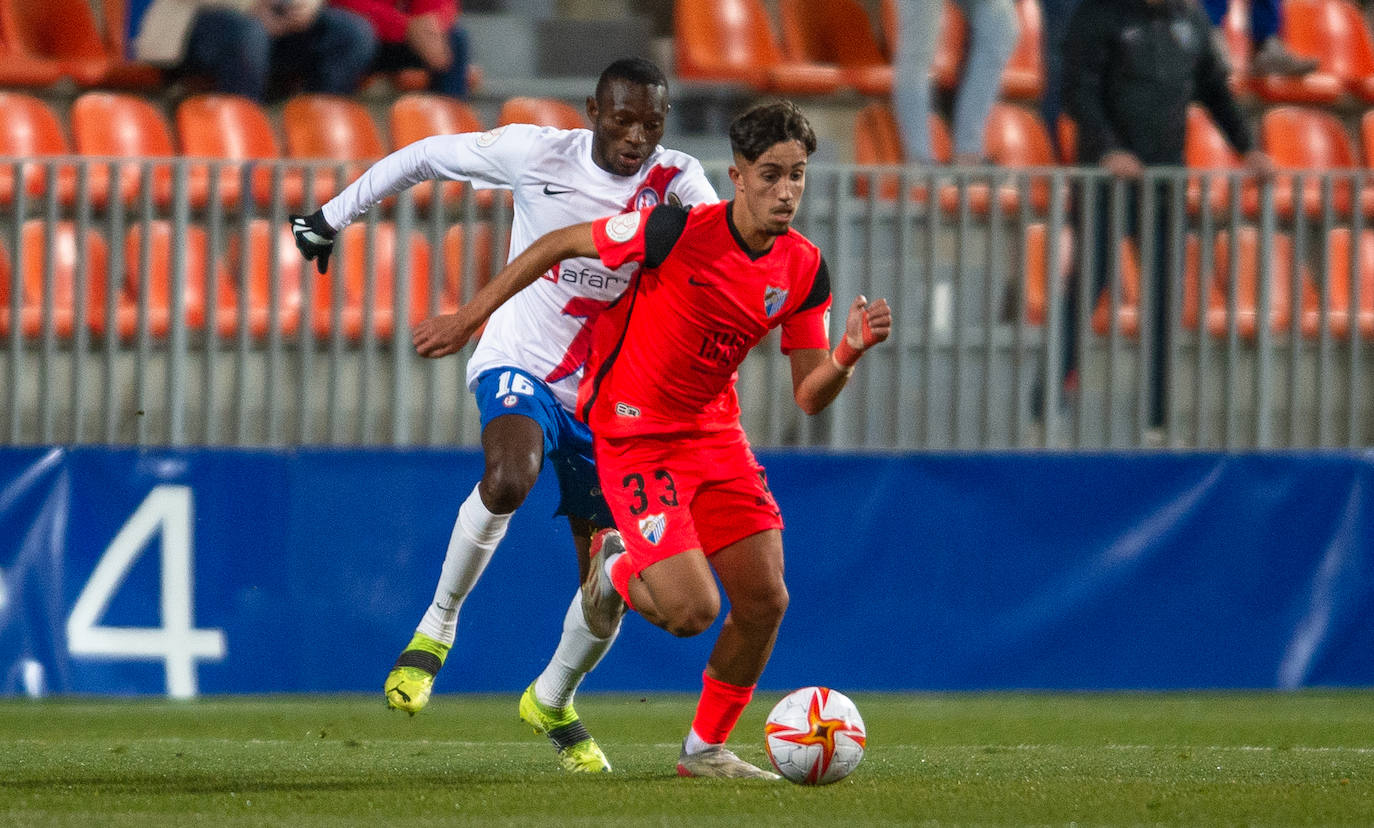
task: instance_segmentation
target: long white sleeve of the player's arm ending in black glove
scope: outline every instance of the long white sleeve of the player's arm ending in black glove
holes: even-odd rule
[[[543,128],[511,124],[489,132],[436,135],[401,147],[370,166],[330,199],[324,221],[335,231],[382,199],[420,181],[470,181],[478,189],[513,188]]]

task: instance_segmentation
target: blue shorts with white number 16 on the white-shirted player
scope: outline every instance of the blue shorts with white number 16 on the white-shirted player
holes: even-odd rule
[[[539,423],[544,433],[544,459],[554,464],[561,493],[555,515],[587,518],[598,526],[614,526],[602,497],[592,460],[592,433],[559,405],[544,380],[519,368],[492,368],[473,389],[482,430],[493,419],[517,413]]]

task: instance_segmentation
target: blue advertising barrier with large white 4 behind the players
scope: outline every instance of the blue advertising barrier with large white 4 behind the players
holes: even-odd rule
[[[761,460],[791,595],[765,688],[1374,684],[1374,453]],[[379,692],[480,472],[452,449],[0,449],[0,692]],[[552,652],[577,567],[547,478],[440,692],[515,693]],[[585,688],[692,691],[713,639],[629,615]]]

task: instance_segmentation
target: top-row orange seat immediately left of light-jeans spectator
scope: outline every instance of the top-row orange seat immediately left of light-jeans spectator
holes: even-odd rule
[[[778,11],[789,59],[835,65],[845,87],[892,95],[892,63],[857,0],[782,0]]]

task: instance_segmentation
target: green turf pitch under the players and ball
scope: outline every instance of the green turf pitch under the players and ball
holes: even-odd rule
[[[760,693],[732,739],[760,763]],[[510,696],[0,702],[0,825],[1371,825],[1374,693],[852,693],[845,781],[680,780],[688,696],[584,695],[616,773]]]

